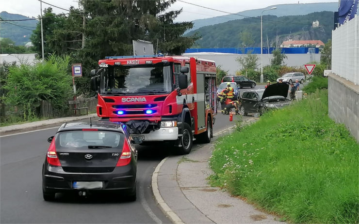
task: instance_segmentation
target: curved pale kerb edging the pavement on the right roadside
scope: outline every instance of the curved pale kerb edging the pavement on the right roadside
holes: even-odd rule
[[[153,171],[152,174],[152,192],[155,196],[156,203],[159,205],[162,212],[171,220],[174,224],[184,224],[183,221],[179,218],[179,216],[172,211],[172,209],[167,205],[167,203],[164,202],[160,190],[158,189],[157,184],[157,178],[158,178],[158,172],[160,172],[161,166],[164,164],[164,162],[167,160],[168,156],[164,158],[155,168],[155,171]]]

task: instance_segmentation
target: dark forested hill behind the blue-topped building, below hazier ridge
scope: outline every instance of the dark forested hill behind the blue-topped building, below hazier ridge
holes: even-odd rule
[[[318,20],[319,27],[312,27]],[[321,40],[324,43],[331,39],[333,29],[333,12],[316,12],[308,15],[290,15],[277,17],[263,15],[263,47],[278,46],[285,40]],[[202,36],[196,41],[195,47],[247,47],[261,46],[261,17],[232,20],[193,30],[187,35],[199,32]],[[246,35],[244,35],[244,33]],[[249,36],[248,36],[249,35]],[[248,38],[249,37],[249,38]],[[278,38],[278,40],[277,40]],[[246,40],[252,41],[246,41]],[[252,43],[251,43],[252,42]]]

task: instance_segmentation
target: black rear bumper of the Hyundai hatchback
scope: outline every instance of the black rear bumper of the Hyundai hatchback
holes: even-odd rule
[[[61,166],[44,164],[42,175],[43,189],[47,192],[79,191],[72,187],[73,181],[102,181],[102,189],[89,191],[131,191],[136,184],[136,168],[131,165],[116,166],[109,173],[67,173]]]

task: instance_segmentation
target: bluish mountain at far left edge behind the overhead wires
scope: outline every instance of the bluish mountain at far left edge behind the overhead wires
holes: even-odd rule
[[[1,12],[0,17],[3,20],[15,20],[15,19],[29,19],[24,15],[11,14],[7,12]],[[30,41],[30,36],[33,30],[36,28],[37,20],[26,20],[26,21],[0,21],[0,37],[10,38],[15,42],[15,45],[25,45]],[[12,24],[10,24],[12,23]],[[18,27],[23,26],[23,27]]]

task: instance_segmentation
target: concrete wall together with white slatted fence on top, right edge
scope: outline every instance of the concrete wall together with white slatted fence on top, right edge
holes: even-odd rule
[[[329,116],[345,124],[359,142],[359,16],[332,32],[332,73]]]

